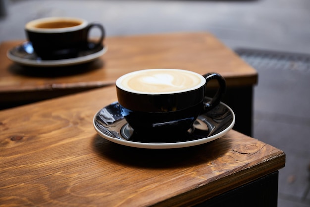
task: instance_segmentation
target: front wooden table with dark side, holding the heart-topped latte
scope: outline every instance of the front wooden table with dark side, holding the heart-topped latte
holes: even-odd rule
[[[0,111],[0,204],[44,207],[275,207],[285,153],[231,130],[181,149],[101,138],[93,116],[107,86]]]

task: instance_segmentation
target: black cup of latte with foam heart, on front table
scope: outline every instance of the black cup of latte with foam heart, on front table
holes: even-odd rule
[[[212,79],[219,88],[211,101],[204,102]],[[140,70],[116,81],[121,114],[140,135],[185,133],[200,114],[220,103],[225,90],[225,79],[218,73],[200,75],[180,69]]]

